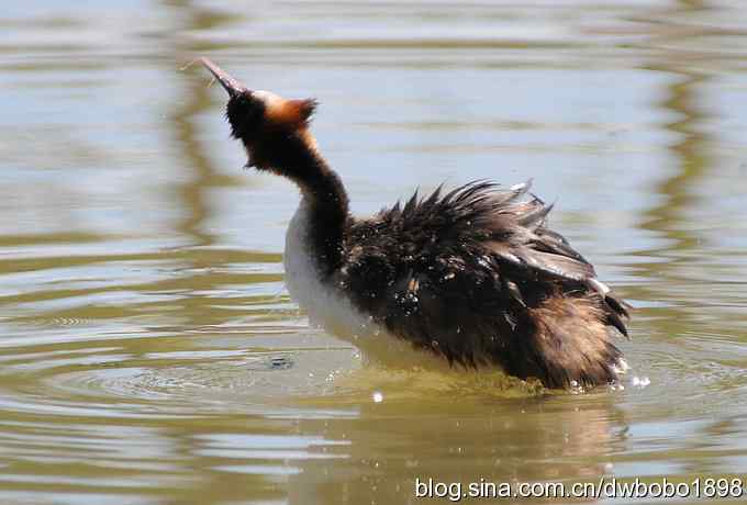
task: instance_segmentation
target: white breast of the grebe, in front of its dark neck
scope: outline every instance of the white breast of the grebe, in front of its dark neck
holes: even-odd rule
[[[322,282],[309,247],[309,205],[301,201],[286,234],[286,285],[293,300],[309,313],[309,322],[344,338],[378,336],[377,327],[365,314]]]

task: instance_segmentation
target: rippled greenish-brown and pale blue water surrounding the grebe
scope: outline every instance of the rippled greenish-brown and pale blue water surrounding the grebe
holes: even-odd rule
[[[743,3],[3,5],[0,502],[747,476]],[[357,213],[534,177],[637,307],[625,389],[381,370],[308,328],[282,283],[297,192],[241,169],[222,90],[181,70],[200,55],[321,101]]]

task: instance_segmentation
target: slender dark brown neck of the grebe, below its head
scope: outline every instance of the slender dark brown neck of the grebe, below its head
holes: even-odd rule
[[[327,277],[342,262],[343,239],[350,220],[347,192],[313,138],[300,139],[288,146],[288,156],[283,156],[288,165],[276,170],[301,189],[305,246],[320,273]]]

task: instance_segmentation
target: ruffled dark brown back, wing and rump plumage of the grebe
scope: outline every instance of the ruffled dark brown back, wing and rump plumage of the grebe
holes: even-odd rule
[[[547,385],[616,377],[623,302],[546,225],[529,183],[413,197],[352,227],[339,285],[392,334],[467,366]]]

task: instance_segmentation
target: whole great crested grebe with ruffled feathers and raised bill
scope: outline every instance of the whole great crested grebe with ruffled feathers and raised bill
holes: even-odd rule
[[[286,282],[312,322],[341,336],[397,337],[449,363],[498,366],[546,386],[615,382],[627,366],[622,300],[546,225],[529,183],[476,181],[361,220],[309,132],[314,100],[254,91],[207,58],[247,166],[301,190]]]

